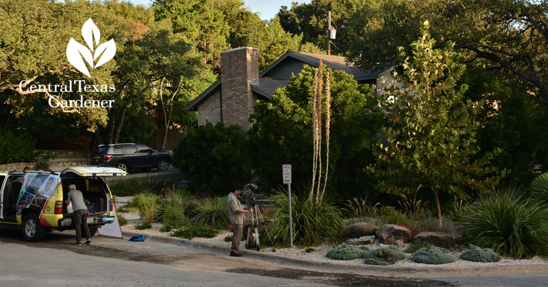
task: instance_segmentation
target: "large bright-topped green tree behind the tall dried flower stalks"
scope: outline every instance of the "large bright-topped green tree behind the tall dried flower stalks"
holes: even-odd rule
[[[323,66],[323,75],[330,71]],[[373,89],[358,86],[344,71],[330,71],[331,127],[327,190],[343,199],[355,190],[372,190],[374,179],[362,167],[373,162],[371,136],[379,129]],[[279,184],[277,166],[292,164],[293,184],[312,182],[312,86],[314,68],[305,66],[270,101],[255,105],[249,130],[253,169],[264,188]],[[325,109],[324,109],[325,110]],[[325,140],[323,142],[325,150]]]

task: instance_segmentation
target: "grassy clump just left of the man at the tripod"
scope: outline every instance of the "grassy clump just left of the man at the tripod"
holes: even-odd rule
[[[195,209],[192,210],[192,220],[199,225],[222,229],[230,221],[227,201],[228,196],[199,199]]]

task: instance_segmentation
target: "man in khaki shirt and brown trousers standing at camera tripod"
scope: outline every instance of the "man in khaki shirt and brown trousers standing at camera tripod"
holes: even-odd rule
[[[242,234],[247,234],[249,224],[244,219],[244,214],[253,213],[253,208],[244,210],[242,203],[238,200],[241,188],[238,184],[232,184],[230,187],[230,194],[228,195],[228,213],[230,215],[230,223],[232,223],[232,248],[230,249],[230,256],[241,257],[238,251],[240,249],[240,241],[242,241]],[[253,234],[249,233],[247,238],[247,245],[251,245],[253,242]]]

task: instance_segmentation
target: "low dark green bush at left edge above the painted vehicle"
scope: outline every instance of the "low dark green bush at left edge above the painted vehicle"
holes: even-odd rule
[[[34,141],[26,134],[16,135],[10,131],[0,132],[0,164],[12,162],[34,162],[38,153]]]

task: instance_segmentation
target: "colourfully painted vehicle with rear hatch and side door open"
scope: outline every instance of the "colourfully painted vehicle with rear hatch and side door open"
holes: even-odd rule
[[[61,172],[10,171],[0,173],[0,225],[23,230],[28,241],[40,241],[53,229],[75,229],[66,211],[69,184],[75,184],[88,203],[91,236],[114,221],[112,194],[102,176],[124,176],[112,167],[85,166]]]

